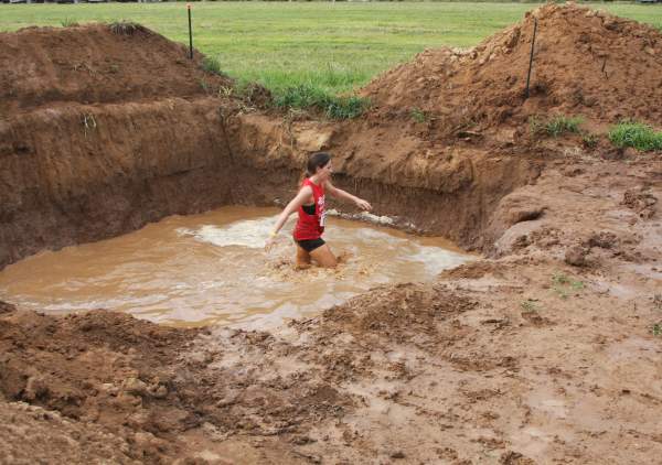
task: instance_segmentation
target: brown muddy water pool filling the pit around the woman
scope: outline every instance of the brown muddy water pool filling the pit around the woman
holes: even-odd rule
[[[324,238],[341,266],[296,271],[292,220],[271,252],[263,249],[278,213],[224,207],[40,253],[0,272],[0,300],[55,314],[109,309],[172,325],[265,328],[471,259],[440,238],[330,218]]]

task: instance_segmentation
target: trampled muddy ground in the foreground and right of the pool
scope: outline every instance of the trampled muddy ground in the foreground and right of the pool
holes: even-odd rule
[[[273,334],[10,309],[8,463],[655,463],[661,177],[551,163],[502,202],[496,218],[542,214],[499,258]]]

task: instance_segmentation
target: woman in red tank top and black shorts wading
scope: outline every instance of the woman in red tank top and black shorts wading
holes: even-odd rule
[[[295,198],[285,207],[278,216],[274,231],[271,233],[265,249],[268,251],[276,242],[276,236],[287,218],[298,212],[299,218],[295,226],[293,238],[297,244],[297,268],[308,268],[311,261],[320,267],[333,268],[338,264],[335,256],[322,239],[327,212],[324,210],[325,194],[353,202],[363,210],[370,210],[372,206],[364,199],[349,192],[340,190],[331,184],[331,155],[327,152],[318,152],[310,155],[306,166],[306,179]]]

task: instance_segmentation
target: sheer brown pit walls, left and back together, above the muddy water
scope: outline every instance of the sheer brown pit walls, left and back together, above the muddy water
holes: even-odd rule
[[[168,215],[287,202],[311,149],[302,130],[290,134],[258,113],[224,122],[222,105],[212,97],[68,105],[0,122],[0,267]],[[425,166],[402,155],[375,166],[356,159],[342,136],[325,143],[340,187],[369,198],[380,215],[466,247],[482,245],[498,201],[536,175],[528,161],[480,152]]]

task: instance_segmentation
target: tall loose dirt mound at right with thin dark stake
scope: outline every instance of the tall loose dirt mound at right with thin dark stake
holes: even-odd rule
[[[534,19],[531,97],[524,98]],[[594,123],[662,123],[662,33],[573,4],[545,6],[470,51],[420,53],[363,94],[380,117],[435,119],[440,137],[516,127],[532,115],[584,116]]]

